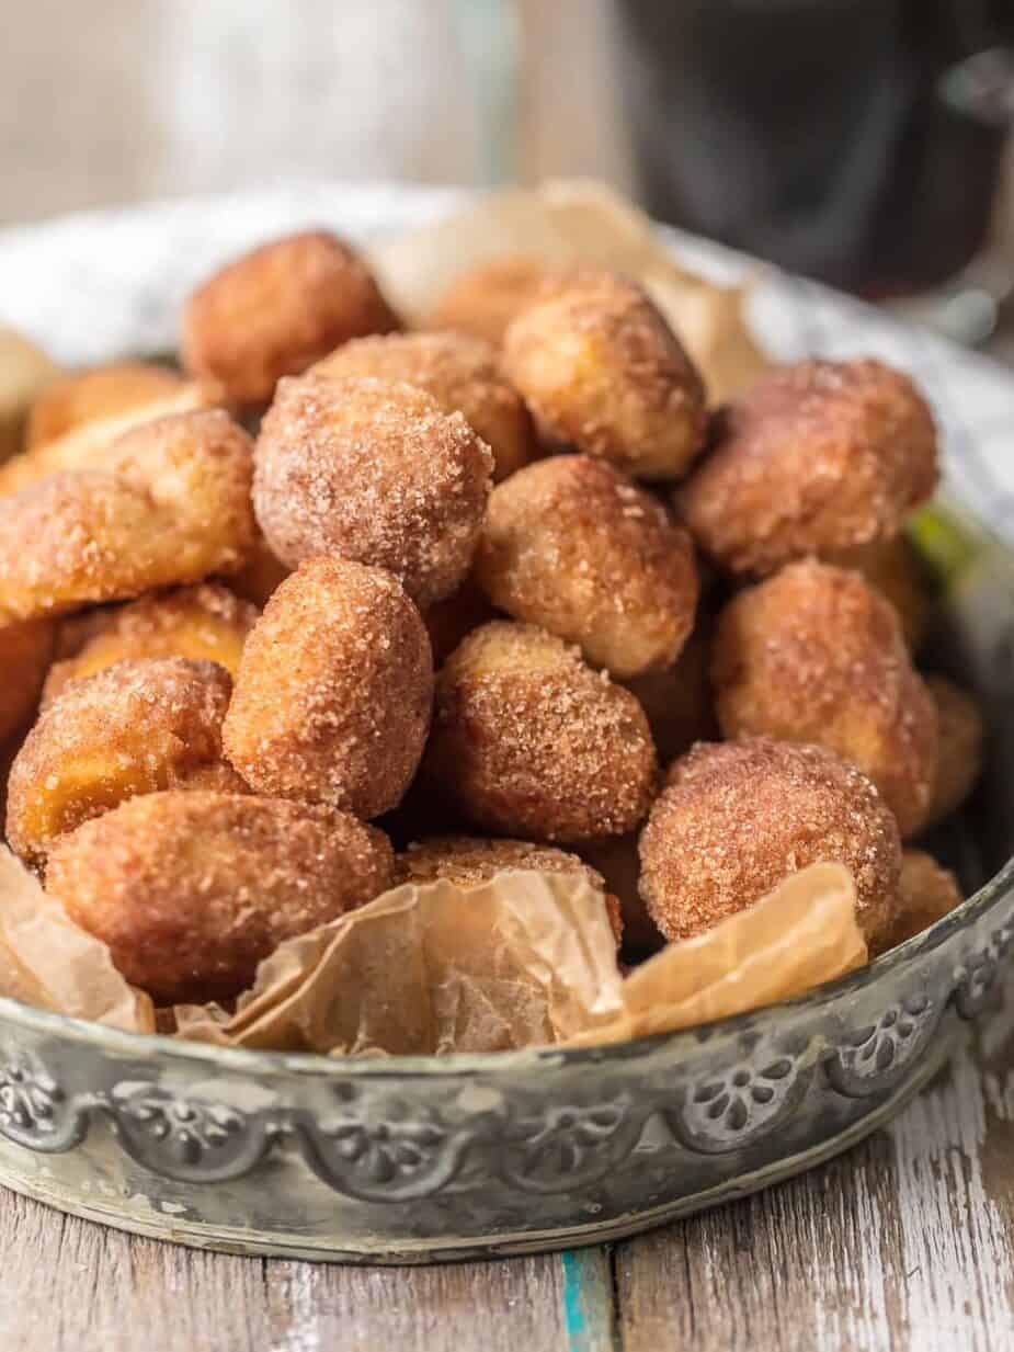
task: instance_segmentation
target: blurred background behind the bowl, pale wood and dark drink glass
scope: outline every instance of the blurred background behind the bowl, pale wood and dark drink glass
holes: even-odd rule
[[[4,5],[0,223],[591,174],[1014,358],[1014,0]]]

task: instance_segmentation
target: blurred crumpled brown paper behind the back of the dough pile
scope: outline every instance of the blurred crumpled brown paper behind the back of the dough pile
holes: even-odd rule
[[[550,266],[600,265],[639,281],[694,357],[713,402],[738,393],[771,366],[746,319],[752,283],[719,287],[688,272],[644,212],[589,180],[489,193],[377,246],[370,261],[395,307],[418,324],[460,276],[506,254]]]

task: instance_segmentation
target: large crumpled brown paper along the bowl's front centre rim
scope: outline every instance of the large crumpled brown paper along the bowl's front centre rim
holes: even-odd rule
[[[177,1009],[185,1037],[331,1055],[591,1045],[757,1009],[867,960],[840,864],[814,864],[626,979],[579,873],[404,886],[283,944],[235,1014]]]

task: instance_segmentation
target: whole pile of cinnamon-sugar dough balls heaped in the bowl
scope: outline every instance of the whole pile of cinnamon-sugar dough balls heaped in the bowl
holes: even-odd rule
[[[204,283],[181,365],[64,377],[0,466],[7,838],[157,1003],[504,868],[584,869],[627,955],[818,860],[873,953],[957,903],[902,848],[982,741],[913,665],[906,376],[710,410],[618,274],[507,258],[404,333],[326,233]]]

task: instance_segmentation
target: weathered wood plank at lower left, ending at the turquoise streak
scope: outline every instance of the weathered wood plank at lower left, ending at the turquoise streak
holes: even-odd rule
[[[239,1259],[131,1238],[0,1192],[4,1352],[610,1352],[608,1260],[439,1268]],[[565,1290],[566,1288],[566,1290]],[[566,1299],[571,1302],[568,1324]]]

